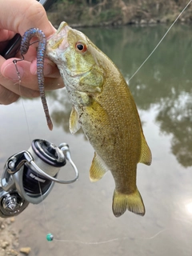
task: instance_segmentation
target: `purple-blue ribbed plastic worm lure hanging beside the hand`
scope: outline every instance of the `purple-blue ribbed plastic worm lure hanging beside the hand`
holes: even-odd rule
[[[25,34],[22,36],[22,42],[20,46],[20,51],[22,57],[26,54],[30,46],[30,39],[37,37],[38,38],[38,51],[37,51],[37,74],[38,74],[38,88],[40,91],[40,97],[42,99],[42,106],[46,114],[46,122],[50,130],[53,129],[53,123],[50,118],[49,109],[46,103],[46,94],[44,90],[44,76],[43,76],[43,67],[44,67],[44,58],[46,54],[46,36],[42,30],[37,28],[31,28],[26,30]]]

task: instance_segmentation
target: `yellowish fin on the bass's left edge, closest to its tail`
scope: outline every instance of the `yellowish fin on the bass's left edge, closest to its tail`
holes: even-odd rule
[[[97,153],[94,153],[94,159],[90,166],[90,181],[97,182],[106,174],[106,172],[107,168],[102,158],[100,158]]]

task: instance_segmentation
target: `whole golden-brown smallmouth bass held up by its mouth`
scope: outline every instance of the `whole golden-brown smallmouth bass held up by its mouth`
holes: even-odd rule
[[[136,186],[137,164],[150,165],[152,157],[122,74],[86,35],[66,22],[48,38],[46,56],[58,66],[73,105],[70,132],[82,126],[94,147],[90,181],[98,181],[110,170],[115,182],[114,215],[126,210],[144,215]]]

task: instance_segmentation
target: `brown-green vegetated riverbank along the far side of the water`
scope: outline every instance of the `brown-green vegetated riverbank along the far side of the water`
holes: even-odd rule
[[[123,26],[174,22],[189,0],[58,0],[48,16],[54,26]],[[192,22],[192,4],[179,18]]]

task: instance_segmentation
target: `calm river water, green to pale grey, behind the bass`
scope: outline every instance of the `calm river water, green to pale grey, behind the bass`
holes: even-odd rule
[[[82,31],[118,66],[128,81],[168,26],[90,28]],[[192,41],[191,27],[175,25],[141,70],[130,80],[151,166],[138,164],[138,189],[146,215],[111,210],[114,180],[110,174],[91,183],[94,150],[82,131],[69,132],[70,102],[66,90],[47,95],[54,130],[46,126],[38,99],[1,106],[0,166],[34,138],[67,142],[80,177],[71,185],[55,184],[44,202],[30,205],[14,223],[20,246],[30,255],[190,256],[192,255]],[[24,107],[23,107],[24,106]],[[24,110],[25,109],[25,110]],[[26,114],[25,114],[26,113]],[[59,178],[70,177],[70,166]],[[47,242],[46,234],[54,234]]]

